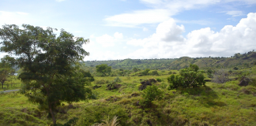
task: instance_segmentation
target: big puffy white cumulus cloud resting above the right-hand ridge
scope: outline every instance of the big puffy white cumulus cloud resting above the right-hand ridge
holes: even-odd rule
[[[226,25],[220,31],[201,28],[182,36],[183,25],[175,20],[160,23],[156,32],[145,39],[130,39],[129,45],[141,49],[128,54],[134,58],[232,56],[254,50],[256,43],[256,13],[249,13],[236,26]]]

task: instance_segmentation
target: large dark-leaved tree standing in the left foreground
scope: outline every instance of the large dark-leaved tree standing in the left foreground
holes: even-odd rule
[[[85,88],[88,80],[76,65],[88,55],[82,48],[88,39],[74,37],[63,29],[56,37],[53,28],[22,26],[24,29],[14,24],[0,28],[1,51],[15,55],[22,69],[18,76],[24,83],[21,93],[46,109],[56,124],[56,107],[61,102],[85,100],[90,93]]]

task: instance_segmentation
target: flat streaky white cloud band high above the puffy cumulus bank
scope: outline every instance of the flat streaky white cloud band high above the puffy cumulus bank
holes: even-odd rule
[[[104,20],[108,26],[133,28],[141,24],[161,23],[184,10],[201,9],[216,4],[230,6],[229,3],[231,2],[239,2],[244,5],[256,4],[255,0],[140,0],[140,2],[149,6],[150,9],[120,13],[107,17]],[[235,10],[226,11],[225,13],[232,15],[232,17],[243,15],[243,12]],[[205,23],[207,22],[201,21],[201,24]]]

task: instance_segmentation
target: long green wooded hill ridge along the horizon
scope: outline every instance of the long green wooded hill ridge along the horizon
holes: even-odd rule
[[[183,69],[190,64],[198,65],[201,69],[209,68],[248,68],[256,65],[256,52],[234,54],[232,57],[180,57],[166,59],[125,59],[113,61],[84,61],[86,66],[107,64],[112,69]]]

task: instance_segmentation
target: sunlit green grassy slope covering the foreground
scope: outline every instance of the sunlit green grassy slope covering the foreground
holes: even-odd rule
[[[255,72],[255,67],[251,68]],[[160,72],[160,71],[159,71]],[[160,72],[162,73],[162,72]],[[168,71],[163,74],[168,73]],[[79,117],[77,125],[100,123],[103,119],[119,116],[122,125],[255,125],[256,87],[239,87],[238,81],[224,84],[206,83],[206,87],[190,90],[168,91],[168,75],[121,76],[122,87],[106,90],[101,84],[95,91],[97,100],[73,103],[73,109],[62,106],[67,113],[58,113],[58,123]],[[140,79],[160,78],[156,83],[164,91],[164,98],[152,102],[149,108],[139,106],[141,91],[137,90]],[[115,77],[96,77],[96,80],[114,80]],[[94,86],[95,83],[92,83]],[[47,113],[37,109],[22,95],[0,95],[0,124],[46,125]]]

